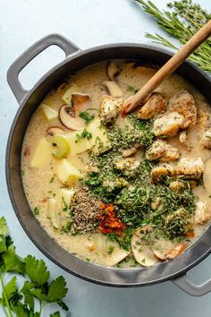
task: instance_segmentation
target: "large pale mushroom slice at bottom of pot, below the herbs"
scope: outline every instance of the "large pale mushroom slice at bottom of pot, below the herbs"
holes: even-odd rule
[[[144,267],[149,267],[159,263],[153,251],[144,240],[146,234],[153,233],[152,227],[142,227],[138,229],[131,238],[132,253],[138,263]]]

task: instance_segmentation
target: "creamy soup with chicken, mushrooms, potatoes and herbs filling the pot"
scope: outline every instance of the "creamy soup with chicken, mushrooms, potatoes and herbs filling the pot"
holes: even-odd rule
[[[156,68],[115,61],[71,75],[31,117],[22,182],[63,249],[119,268],[173,260],[211,218],[206,99],[176,74],[127,116]]]

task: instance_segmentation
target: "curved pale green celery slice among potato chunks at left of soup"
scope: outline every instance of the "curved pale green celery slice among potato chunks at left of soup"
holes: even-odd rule
[[[67,154],[70,151],[70,145],[68,141],[62,136],[55,134],[50,138],[51,143],[55,147],[55,150],[53,150],[52,155],[56,159],[62,159],[67,156]]]

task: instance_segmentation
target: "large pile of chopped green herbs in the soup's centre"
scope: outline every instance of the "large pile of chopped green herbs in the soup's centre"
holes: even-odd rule
[[[114,204],[118,217],[127,227],[122,236],[108,236],[124,249],[131,248],[134,230],[146,225],[155,227],[156,233],[166,239],[180,240],[192,229],[195,198],[190,180],[180,179],[181,191],[170,188],[169,184],[177,179],[173,177],[166,176],[162,182],[152,184],[151,170],[157,162],[147,159],[142,159],[132,171],[116,168],[115,163],[122,159],[122,149],[138,143],[147,150],[156,139],[153,120],[139,120],[135,115],[129,116],[129,120],[131,128],[109,128],[112,149],[91,158],[98,172],[89,174],[85,184],[101,201]]]

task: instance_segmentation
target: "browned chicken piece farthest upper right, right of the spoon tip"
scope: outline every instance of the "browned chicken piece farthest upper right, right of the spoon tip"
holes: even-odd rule
[[[176,93],[168,102],[168,111],[176,111],[184,116],[183,129],[197,123],[197,106],[193,96],[187,90]]]

